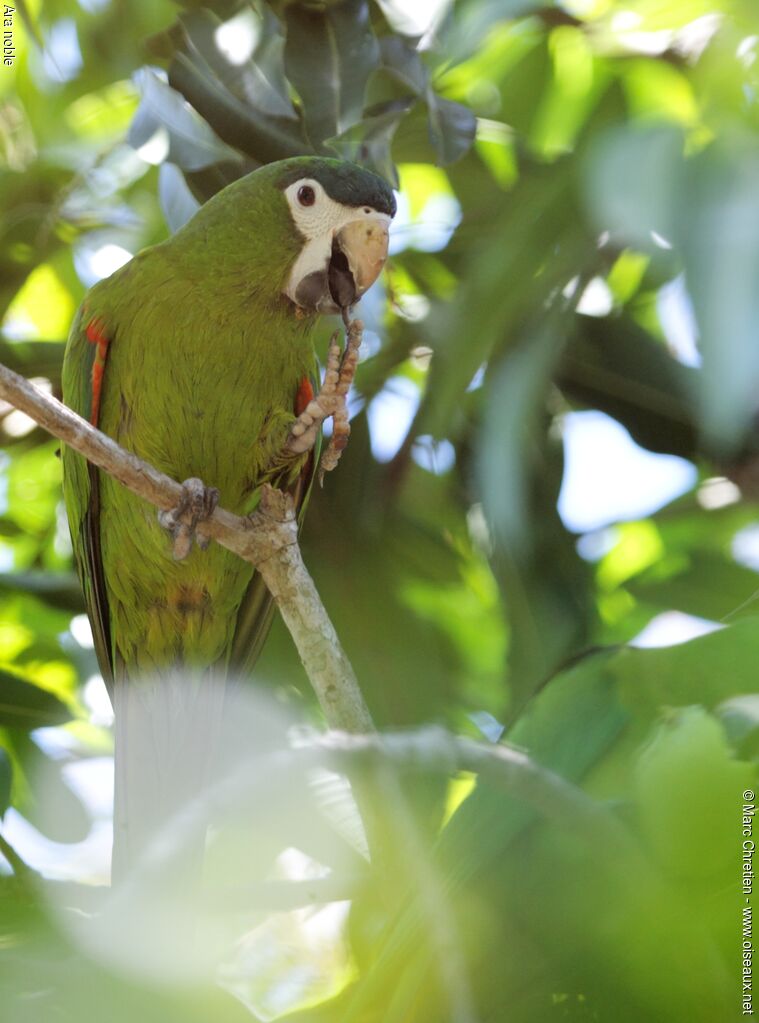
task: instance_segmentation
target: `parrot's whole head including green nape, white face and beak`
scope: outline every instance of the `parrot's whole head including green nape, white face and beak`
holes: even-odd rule
[[[361,167],[321,157],[266,164],[209,199],[174,236],[174,251],[216,259],[240,294],[315,313],[350,309],[388,256],[396,203]],[[195,243],[190,243],[195,242]],[[194,257],[191,257],[194,258]]]

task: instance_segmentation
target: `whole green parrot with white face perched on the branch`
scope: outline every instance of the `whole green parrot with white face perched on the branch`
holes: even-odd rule
[[[345,318],[376,279],[395,212],[387,182],[337,160],[285,160],[235,181],[92,287],[69,338],[64,402],[174,479],[203,481],[207,511],[218,492],[222,506],[249,514],[267,480],[300,511],[314,455],[287,451],[286,441],[313,397],[313,328],[320,313]],[[204,680],[250,672],[273,609],[251,565],[218,544],[177,560],[170,517],[162,525],[69,448],[62,463],[114,704],[114,873],[123,875],[202,781],[193,744],[219,710]],[[170,700],[151,699],[172,686]],[[196,767],[188,776],[185,758],[172,781],[182,744]]]

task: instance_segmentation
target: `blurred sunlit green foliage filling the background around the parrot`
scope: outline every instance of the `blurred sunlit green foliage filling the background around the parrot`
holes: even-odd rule
[[[267,907],[235,889],[233,914],[208,925],[223,991],[163,960],[115,965],[73,923],[97,893],[3,876],[3,1018],[732,1018],[734,850],[759,750],[759,587],[735,554],[755,529],[759,449],[751,0],[458,0],[427,24],[400,0],[16,7],[0,77],[0,360],[57,393],[86,287],[261,164],[332,153],[398,183],[386,293],[364,300],[360,407],[312,502],[307,563],[381,726],[494,739],[506,725],[633,851],[594,848],[485,782],[422,774],[402,779],[421,852],[392,806],[406,854],[366,882],[345,820],[324,825],[325,803],[351,816],[324,782],[282,819],[259,806],[235,868],[271,880],[295,847],[361,875],[318,954],[305,914],[262,923]],[[665,315],[673,290],[697,358]],[[376,413],[399,395],[411,422],[389,453]],[[561,433],[588,408],[688,459],[695,488],[574,535],[556,510]],[[107,752],[109,733],[56,444],[0,417],[2,834],[15,813],[71,844],[91,827],[74,753]],[[672,612],[722,627],[627,646]],[[278,622],[257,675],[316,720]],[[235,944],[244,931],[259,943]],[[451,1004],[456,957],[474,1008]]]

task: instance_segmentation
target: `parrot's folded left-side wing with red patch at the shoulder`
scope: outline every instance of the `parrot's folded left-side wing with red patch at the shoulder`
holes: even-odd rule
[[[107,344],[101,322],[89,319],[86,307],[82,307],[77,313],[69,338],[63,390],[74,411],[94,427],[98,422]],[[100,554],[98,471],[70,448],[63,448],[61,457],[63,495],[71,525],[74,559],[84,591],[97,661],[108,693],[113,696],[114,650]]]

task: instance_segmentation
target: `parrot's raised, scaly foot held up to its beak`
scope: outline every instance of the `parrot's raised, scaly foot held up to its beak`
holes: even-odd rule
[[[339,331],[336,330],[332,335],[324,382],[319,393],[293,424],[287,438],[287,449],[295,454],[310,451],[316,443],[322,422],[332,416],[332,436],[319,463],[319,483],[322,482],[324,473],[331,472],[338,464],[351,435],[347,395],[356,375],[362,332],[361,320],[353,320],[348,326],[344,352],[341,352]]]

